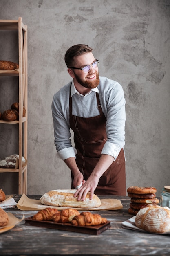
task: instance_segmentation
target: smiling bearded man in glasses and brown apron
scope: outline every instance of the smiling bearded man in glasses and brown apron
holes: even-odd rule
[[[74,196],[126,195],[123,89],[99,76],[99,60],[88,45],[70,47],[65,63],[72,81],[54,95],[52,115],[57,155],[71,170],[71,188],[82,183]]]

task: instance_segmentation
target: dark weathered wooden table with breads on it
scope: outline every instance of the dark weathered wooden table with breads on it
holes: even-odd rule
[[[16,202],[21,195],[14,195]],[[27,195],[40,199],[41,195]],[[93,211],[111,221],[110,228],[99,235],[47,229],[25,225],[22,221],[13,229],[0,234],[0,255],[170,255],[170,235],[157,235],[122,228],[128,214],[130,198],[127,196],[101,196],[121,200],[123,209]],[[36,211],[6,209],[17,218],[32,216]]]

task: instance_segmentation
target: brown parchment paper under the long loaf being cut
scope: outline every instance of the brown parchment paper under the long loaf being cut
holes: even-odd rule
[[[118,210],[118,209],[122,209],[123,205],[121,204],[120,200],[117,199],[101,199],[101,206],[97,207],[97,208],[75,208],[77,210],[80,211],[84,211],[84,210],[97,210],[97,211],[109,211],[109,210]],[[47,206],[44,204],[41,204],[40,200],[35,200],[35,199],[29,199],[25,194],[22,195],[22,197],[20,198],[20,200],[18,201],[17,204],[18,209],[22,210],[22,211],[36,211],[36,210],[42,210],[45,209],[46,207],[51,207],[51,208],[56,208],[59,210],[62,209],[66,209],[68,207],[57,207],[57,206]],[[71,207],[69,207],[71,208]]]

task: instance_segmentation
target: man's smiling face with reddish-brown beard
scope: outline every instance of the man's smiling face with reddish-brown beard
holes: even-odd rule
[[[93,62],[95,62],[95,58],[92,52],[88,52],[75,57],[74,67],[82,68],[86,65],[91,65]],[[74,79],[85,88],[92,89],[99,85],[98,67],[94,69],[91,65],[91,69],[88,73],[84,73],[83,70],[73,69],[73,73],[75,76]]]

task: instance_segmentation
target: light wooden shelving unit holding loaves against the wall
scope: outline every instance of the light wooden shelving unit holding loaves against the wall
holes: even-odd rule
[[[18,54],[19,68],[12,71],[0,70],[0,76],[19,76],[19,121],[4,121],[0,120],[0,124],[15,124],[18,125],[18,140],[19,140],[19,162],[18,169],[0,168],[0,173],[3,172],[18,172],[18,193],[27,193],[27,130],[28,130],[28,90],[27,90],[27,26],[22,23],[22,18],[18,20],[0,20],[0,30],[18,31]],[[22,117],[23,106],[26,109],[26,116]],[[26,165],[22,164],[22,156],[26,159]]]

